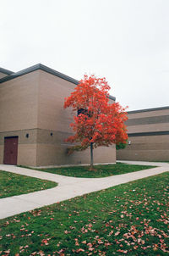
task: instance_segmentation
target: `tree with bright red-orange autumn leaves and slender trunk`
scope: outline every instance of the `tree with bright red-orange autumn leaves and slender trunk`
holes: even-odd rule
[[[124,125],[127,113],[119,103],[109,102],[110,86],[105,78],[95,75],[84,75],[75,91],[65,98],[64,108],[72,107],[76,113],[74,123],[70,126],[74,131],[67,142],[78,142],[70,150],[85,150],[90,147],[90,168],[93,168],[93,148],[99,146],[126,143],[127,129]],[[78,115],[77,115],[78,113]]]

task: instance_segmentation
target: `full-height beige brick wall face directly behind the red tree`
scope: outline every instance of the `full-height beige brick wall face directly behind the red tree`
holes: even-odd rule
[[[72,134],[69,124],[73,121],[71,109],[64,109],[64,99],[74,92],[74,85],[55,75],[40,71],[38,99],[37,165],[87,164],[90,163],[88,150],[68,156],[67,148],[72,144],[65,139]],[[51,136],[52,133],[52,136]],[[114,163],[114,146],[95,149],[95,163]]]

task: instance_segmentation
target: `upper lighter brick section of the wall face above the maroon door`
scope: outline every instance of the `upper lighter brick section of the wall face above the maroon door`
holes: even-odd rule
[[[37,127],[39,70],[0,84],[0,132]]]

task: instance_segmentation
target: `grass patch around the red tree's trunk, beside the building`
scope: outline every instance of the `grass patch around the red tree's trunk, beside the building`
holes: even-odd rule
[[[41,169],[42,171],[54,173],[57,175],[83,177],[83,178],[101,178],[112,175],[122,175],[128,172],[155,168],[150,165],[133,165],[133,164],[100,164],[94,166],[95,170],[90,170],[90,166],[71,166]],[[40,170],[40,169],[38,169]]]

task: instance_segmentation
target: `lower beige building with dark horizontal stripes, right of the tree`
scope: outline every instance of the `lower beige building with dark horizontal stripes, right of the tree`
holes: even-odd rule
[[[128,146],[118,160],[169,161],[169,106],[128,112]]]

